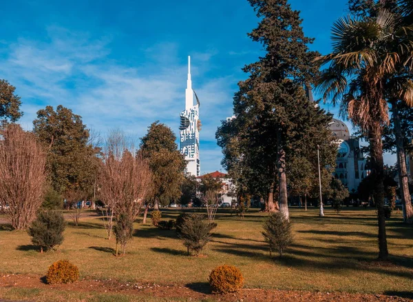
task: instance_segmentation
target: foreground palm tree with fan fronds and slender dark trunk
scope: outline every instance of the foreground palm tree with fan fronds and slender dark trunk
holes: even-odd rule
[[[400,66],[411,70],[412,28],[401,25],[395,15],[381,10],[374,19],[341,18],[332,27],[332,52],[319,57],[328,68],[317,82],[324,99],[341,101],[341,114],[366,133],[370,141],[374,201],[379,223],[379,259],[388,258],[384,215],[384,170],[381,132],[388,124],[385,87]],[[401,93],[400,97],[407,97]],[[413,105],[411,98],[406,98]]]

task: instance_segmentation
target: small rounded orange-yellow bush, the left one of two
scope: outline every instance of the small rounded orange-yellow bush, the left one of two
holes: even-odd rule
[[[73,283],[79,279],[79,270],[67,260],[59,260],[50,265],[46,281],[49,284]]]

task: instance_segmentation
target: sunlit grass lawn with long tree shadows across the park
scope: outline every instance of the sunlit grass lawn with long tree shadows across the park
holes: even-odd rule
[[[179,210],[163,210],[162,219],[173,219]],[[78,265],[81,279],[116,279],[162,285],[197,285],[207,282],[213,268],[224,263],[242,271],[246,288],[403,294],[413,288],[413,228],[401,223],[401,214],[388,220],[391,263],[376,261],[375,211],[328,208],[326,217],[317,209],[290,209],[294,244],[283,259],[269,258],[261,234],[266,214],[251,210],[240,219],[229,210],[217,214],[218,227],[204,257],[186,256],[174,231],[135,224],[127,255],[113,255],[115,242],[105,239],[103,223],[90,213],[78,227],[71,221],[57,252],[39,253],[26,232],[0,227],[0,273],[43,276],[59,259]],[[17,290],[18,291],[18,290]],[[5,290],[0,290],[0,296]],[[45,293],[43,293],[45,294]],[[120,300],[121,301],[121,300]]]

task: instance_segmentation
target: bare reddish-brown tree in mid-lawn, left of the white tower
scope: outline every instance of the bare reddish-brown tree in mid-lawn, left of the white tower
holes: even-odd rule
[[[110,132],[99,175],[108,239],[115,215],[127,214],[132,221],[138,217],[142,203],[151,191],[151,178],[147,161],[140,155],[134,156],[133,144],[125,134],[119,130]]]

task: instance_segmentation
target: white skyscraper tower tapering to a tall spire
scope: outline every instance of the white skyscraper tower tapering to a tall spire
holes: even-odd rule
[[[185,110],[180,113],[180,152],[187,161],[186,175],[200,176],[200,102],[195,94],[196,104],[193,104],[191,81],[191,57],[188,57],[188,79],[185,90]]]

